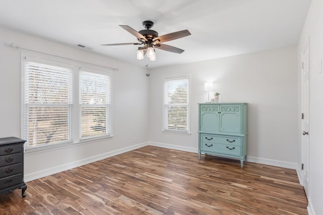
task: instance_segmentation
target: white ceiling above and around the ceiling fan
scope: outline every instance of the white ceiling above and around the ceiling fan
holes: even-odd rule
[[[296,45],[311,0],[0,0],[0,26],[149,68]],[[119,25],[139,31],[154,22],[159,36],[182,54],[156,49],[156,61],[137,60],[138,46]],[[19,41],[12,41],[19,45]],[[86,48],[85,48],[86,49]],[[88,50],[88,49],[86,49]]]

